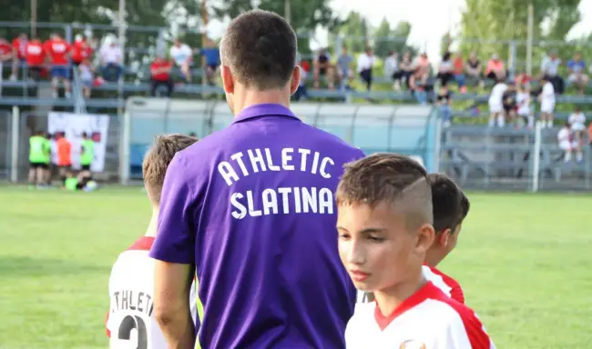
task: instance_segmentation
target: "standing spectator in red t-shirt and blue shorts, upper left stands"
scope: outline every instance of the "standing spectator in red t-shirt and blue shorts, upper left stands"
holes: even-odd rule
[[[57,98],[57,87],[61,83],[66,91],[66,98],[70,98],[70,45],[57,33],[49,35],[49,40],[44,43],[49,63],[51,64],[51,87],[54,91],[54,98]]]

